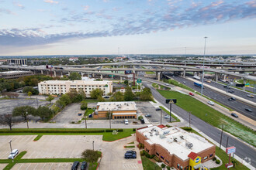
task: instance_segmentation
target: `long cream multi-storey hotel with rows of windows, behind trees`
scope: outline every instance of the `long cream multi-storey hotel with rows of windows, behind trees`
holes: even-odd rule
[[[39,93],[42,94],[64,94],[72,88],[84,90],[86,97],[90,97],[91,91],[97,88],[106,95],[112,93],[112,81],[48,80],[38,83]]]

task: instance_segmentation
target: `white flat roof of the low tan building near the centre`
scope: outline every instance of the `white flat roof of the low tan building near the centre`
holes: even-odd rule
[[[98,102],[99,111],[106,110],[137,110],[136,104],[134,101],[113,101],[113,102]],[[117,113],[116,113],[117,114]]]

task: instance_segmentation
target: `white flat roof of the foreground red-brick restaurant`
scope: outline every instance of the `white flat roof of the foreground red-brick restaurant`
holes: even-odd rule
[[[178,127],[159,128],[157,126],[149,125],[147,128],[137,130],[147,138],[150,145],[161,145],[166,148],[170,154],[177,155],[183,161],[187,160],[191,151],[199,153],[208,148],[213,147],[211,143],[205,138],[197,134],[189,133]],[[192,144],[192,148],[186,146]]]

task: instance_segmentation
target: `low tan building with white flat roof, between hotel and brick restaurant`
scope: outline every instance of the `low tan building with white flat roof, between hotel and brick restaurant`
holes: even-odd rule
[[[112,119],[136,119],[137,107],[134,101],[99,102],[95,110],[94,118],[106,117],[112,113]],[[109,117],[107,117],[109,118]]]

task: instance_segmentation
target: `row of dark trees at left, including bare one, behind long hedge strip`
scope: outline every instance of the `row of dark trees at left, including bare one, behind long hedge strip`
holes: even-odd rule
[[[0,124],[9,126],[10,130],[12,131],[12,126],[19,122],[16,117],[22,117],[24,121],[28,121],[28,116],[32,115],[34,117],[41,117],[41,119],[44,121],[50,119],[52,114],[53,111],[44,106],[40,106],[37,109],[31,106],[15,107],[12,110],[12,114],[0,115]]]

